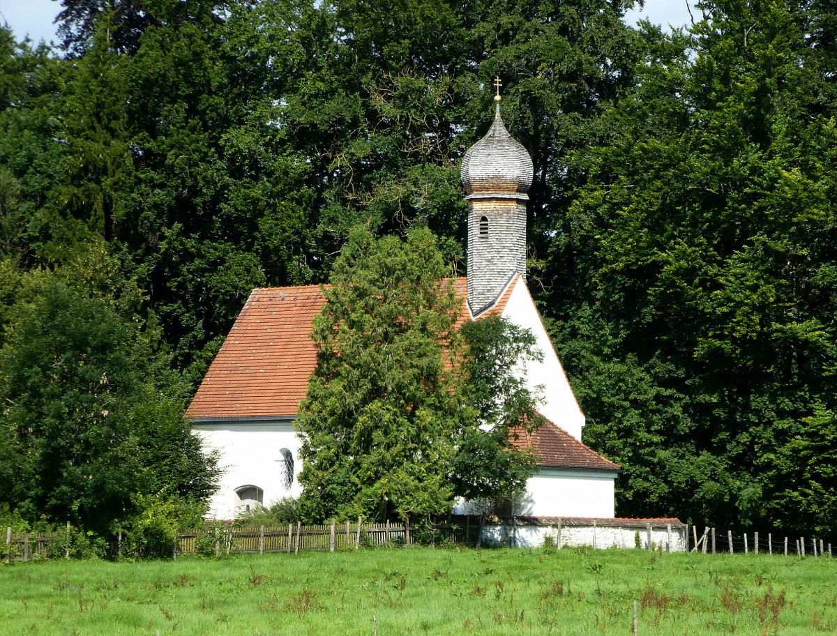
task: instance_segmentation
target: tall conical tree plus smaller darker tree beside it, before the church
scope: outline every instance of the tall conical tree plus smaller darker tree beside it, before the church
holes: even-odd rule
[[[509,427],[540,423],[513,375],[534,337],[496,318],[460,333],[447,273],[426,228],[406,241],[352,231],[314,320],[317,366],[296,420],[304,519],[415,525],[454,496],[511,499],[531,476]]]

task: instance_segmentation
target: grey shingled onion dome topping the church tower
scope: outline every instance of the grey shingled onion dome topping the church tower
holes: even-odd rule
[[[506,131],[500,116],[499,95],[496,115],[488,134],[465,153],[462,185],[466,199],[516,198],[528,200],[534,168],[531,156],[520,141]]]

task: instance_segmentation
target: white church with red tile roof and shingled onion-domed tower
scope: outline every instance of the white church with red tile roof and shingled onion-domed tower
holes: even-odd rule
[[[538,464],[515,514],[612,519],[621,469],[581,442],[583,412],[526,287],[532,163],[506,131],[496,100],[490,131],[463,160],[468,275],[455,287],[468,319],[501,315],[531,330],[542,352],[542,360],[519,370],[527,387],[539,389],[547,423],[516,442]],[[316,366],[311,326],[324,303],[319,286],[254,290],[187,409],[194,432],[218,451],[223,469],[210,505],[214,518],[300,495],[294,420]],[[467,504],[457,508],[468,511]]]

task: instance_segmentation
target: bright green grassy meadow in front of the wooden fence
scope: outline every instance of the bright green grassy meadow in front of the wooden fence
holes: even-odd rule
[[[812,634],[837,561],[639,550],[379,549],[0,567],[0,633]],[[375,618],[373,622],[373,617]]]

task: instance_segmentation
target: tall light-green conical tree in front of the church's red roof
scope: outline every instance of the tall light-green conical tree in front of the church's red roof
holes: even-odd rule
[[[314,319],[317,367],[296,420],[304,518],[449,510],[453,441],[475,418],[450,390],[462,303],[444,274],[426,229],[406,242],[349,237]]]

